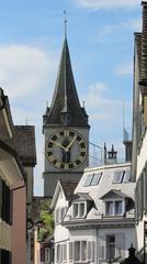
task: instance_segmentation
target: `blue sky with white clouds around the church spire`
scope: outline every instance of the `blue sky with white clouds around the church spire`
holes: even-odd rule
[[[142,30],[140,1],[1,1],[0,87],[9,96],[14,124],[35,125],[35,195],[43,195],[42,116],[55,88],[64,10],[76,87],[89,114],[90,142],[100,146],[105,142],[108,148],[114,144],[121,152],[123,122],[132,127],[134,32]]]

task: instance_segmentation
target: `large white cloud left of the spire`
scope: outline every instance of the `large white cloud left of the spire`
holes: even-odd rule
[[[55,70],[55,59],[37,47],[0,46],[0,86],[11,98],[42,90]]]

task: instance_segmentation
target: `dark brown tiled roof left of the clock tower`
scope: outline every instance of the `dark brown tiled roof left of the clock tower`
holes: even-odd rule
[[[18,152],[24,166],[35,166],[36,147],[34,125],[15,125],[13,138],[5,142]]]

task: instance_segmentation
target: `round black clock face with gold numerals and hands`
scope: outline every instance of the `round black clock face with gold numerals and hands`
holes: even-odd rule
[[[86,141],[76,131],[57,131],[47,141],[46,157],[56,168],[64,170],[77,168],[87,157]]]

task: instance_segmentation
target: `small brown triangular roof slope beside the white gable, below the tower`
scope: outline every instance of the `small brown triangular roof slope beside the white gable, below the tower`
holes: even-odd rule
[[[60,179],[59,182],[63,187],[66,199],[69,200],[70,197],[74,195],[74,191],[78,185],[78,182],[63,180],[63,179]]]

